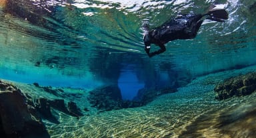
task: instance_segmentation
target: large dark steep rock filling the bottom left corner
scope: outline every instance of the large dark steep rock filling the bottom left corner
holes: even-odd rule
[[[21,90],[1,80],[0,88],[1,137],[49,137],[37,111],[27,104]]]

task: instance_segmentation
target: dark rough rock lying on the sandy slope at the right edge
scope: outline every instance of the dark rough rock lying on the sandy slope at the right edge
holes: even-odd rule
[[[256,90],[256,73],[248,73],[229,78],[215,86],[217,100],[225,100],[232,96],[247,96]]]

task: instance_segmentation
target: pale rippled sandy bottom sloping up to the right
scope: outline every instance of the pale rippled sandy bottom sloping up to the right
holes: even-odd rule
[[[44,120],[51,137],[255,137],[256,92],[225,101],[214,99],[215,84],[230,76],[255,71],[255,66],[202,76],[178,92],[158,97],[144,107],[99,113],[89,107],[87,91],[82,97],[67,98],[83,109],[85,116],[70,117],[59,113],[61,123]],[[48,96],[31,85],[17,84],[23,92]]]

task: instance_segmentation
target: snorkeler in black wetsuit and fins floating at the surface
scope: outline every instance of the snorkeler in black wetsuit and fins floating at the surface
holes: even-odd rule
[[[205,19],[217,22],[224,22],[225,19],[228,19],[225,9],[213,9],[214,7],[211,6],[209,12],[204,15],[179,15],[175,19],[171,19],[163,25],[148,31],[144,36],[144,44],[145,51],[149,57],[165,52],[165,44],[171,40],[195,38],[203,23],[202,17],[207,16]],[[155,44],[160,49],[155,52],[149,52],[150,44]]]

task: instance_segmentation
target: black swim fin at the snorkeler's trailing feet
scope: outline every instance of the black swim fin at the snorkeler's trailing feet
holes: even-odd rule
[[[225,9],[210,9],[206,15],[209,15],[207,19],[212,21],[224,22],[225,19],[229,19],[229,15]]]

